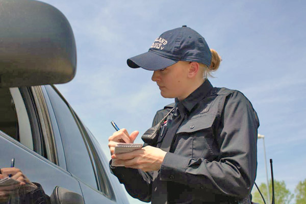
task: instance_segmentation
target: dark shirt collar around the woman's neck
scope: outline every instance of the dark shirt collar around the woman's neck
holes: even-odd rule
[[[175,98],[175,103],[178,103],[178,108],[180,107],[180,104],[182,104],[188,110],[188,112],[190,112],[193,107],[199,103],[200,100],[207,97],[208,93],[212,90],[212,88],[212,84],[207,79],[203,82],[203,84],[201,84],[201,86],[199,86],[185,99],[180,101],[179,99]]]

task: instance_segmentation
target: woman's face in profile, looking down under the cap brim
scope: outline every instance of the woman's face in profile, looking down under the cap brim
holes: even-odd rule
[[[165,98],[184,99],[187,91],[189,62],[179,61],[165,69],[154,71],[152,81],[156,82]]]

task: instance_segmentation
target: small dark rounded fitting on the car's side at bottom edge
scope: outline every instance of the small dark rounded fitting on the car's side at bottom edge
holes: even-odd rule
[[[84,199],[80,194],[58,186],[53,190],[50,201],[53,204],[84,204]]]

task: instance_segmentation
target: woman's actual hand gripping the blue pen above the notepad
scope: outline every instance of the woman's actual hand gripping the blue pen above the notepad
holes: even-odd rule
[[[111,155],[114,154],[115,146],[118,143],[133,143],[136,137],[138,136],[139,131],[134,131],[129,135],[126,129],[120,129],[119,131],[115,132],[112,136],[109,137],[109,148],[111,151]]]

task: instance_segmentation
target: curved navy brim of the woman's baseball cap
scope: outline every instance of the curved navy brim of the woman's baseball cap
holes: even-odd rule
[[[171,66],[179,62],[177,60],[170,60],[152,52],[143,53],[135,57],[127,59],[126,63],[131,68],[144,68],[147,70],[159,70]]]

